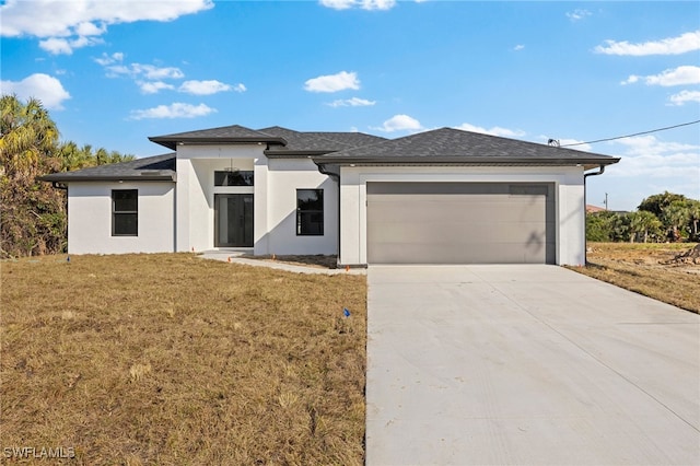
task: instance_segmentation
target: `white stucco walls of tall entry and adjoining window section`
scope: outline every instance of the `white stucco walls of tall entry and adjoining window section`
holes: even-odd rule
[[[214,195],[253,193],[254,254],[337,254],[337,183],[310,159],[275,159],[264,145],[177,148],[176,251],[214,247]],[[253,187],[214,187],[214,171],[253,170]],[[324,235],[296,235],[296,189],[324,189]]]

